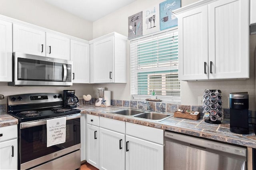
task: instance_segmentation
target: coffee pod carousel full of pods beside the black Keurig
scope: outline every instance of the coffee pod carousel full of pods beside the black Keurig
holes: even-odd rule
[[[223,120],[222,96],[220,90],[204,90],[203,113],[207,123],[220,124]]]

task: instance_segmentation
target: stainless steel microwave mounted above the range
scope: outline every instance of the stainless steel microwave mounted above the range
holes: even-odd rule
[[[8,86],[72,86],[72,61],[13,53]]]

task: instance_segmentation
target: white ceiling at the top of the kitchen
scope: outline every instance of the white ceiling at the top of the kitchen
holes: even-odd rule
[[[87,21],[96,21],[136,0],[44,0]]]

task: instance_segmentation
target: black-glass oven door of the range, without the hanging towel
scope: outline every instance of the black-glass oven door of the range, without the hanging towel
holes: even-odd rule
[[[66,116],[66,142],[46,146],[46,119],[20,123],[19,169],[38,166],[49,160],[79,150],[81,114]]]

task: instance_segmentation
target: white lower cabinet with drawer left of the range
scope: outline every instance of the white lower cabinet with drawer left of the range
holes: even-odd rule
[[[17,125],[0,127],[0,170],[18,168]]]

